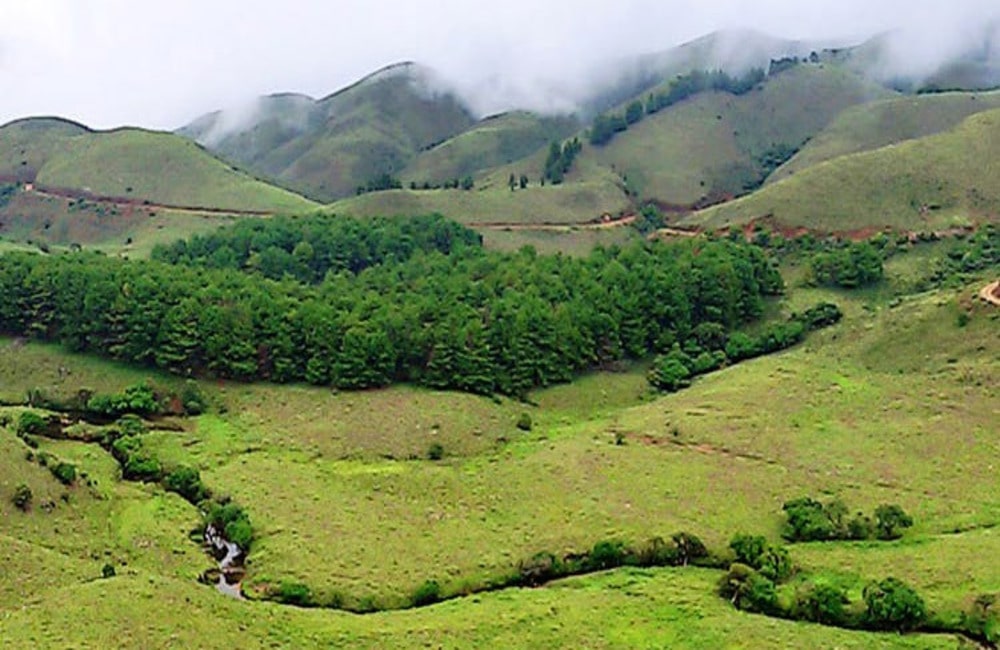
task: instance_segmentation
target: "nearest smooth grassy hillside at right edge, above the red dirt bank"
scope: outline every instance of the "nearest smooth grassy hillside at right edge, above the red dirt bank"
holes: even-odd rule
[[[686,221],[722,227],[768,216],[786,226],[843,231],[932,230],[994,218],[998,151],[1000,111],[981,113],[947,133],[819,164]]]

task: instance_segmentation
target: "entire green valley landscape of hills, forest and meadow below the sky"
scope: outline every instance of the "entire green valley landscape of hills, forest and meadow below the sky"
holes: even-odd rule
[[[738,36],[0,127],[0,645],[995,648],[992,63]]]

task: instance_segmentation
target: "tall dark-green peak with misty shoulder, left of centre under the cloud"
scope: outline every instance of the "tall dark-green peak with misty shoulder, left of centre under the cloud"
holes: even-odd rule
[[[429,70],[390,66],[325,99],[265,98],[249,119],[206,116],[179,133],[307,196],[332,201],[473,125]],[[244,122],[240,124],[239,122]]]

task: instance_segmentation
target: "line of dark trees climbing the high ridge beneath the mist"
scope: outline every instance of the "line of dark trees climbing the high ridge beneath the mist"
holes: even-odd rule
[[[760,68],[754,68],[742,77],[732,77],[721,70],[695,70],[680,75],[670,83],[667,90],[651,94],[645,105],[634,101],[626,106],[624,113],[602,113],[595,117],[590,127],[590,143],[594,146],[606,145],[616,134],[628,130],[646,115],[658,113],[698,93],[712,90],[745,95],[766,77],[766,73]]]

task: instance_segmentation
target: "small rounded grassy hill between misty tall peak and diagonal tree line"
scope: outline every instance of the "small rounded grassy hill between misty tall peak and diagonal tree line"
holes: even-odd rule
[[[422,152],[400,172],[410,181],[440,183],[507,165],[562,140],[579,128],[572,117],[516,111],[486,118],[468,131]]]

